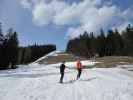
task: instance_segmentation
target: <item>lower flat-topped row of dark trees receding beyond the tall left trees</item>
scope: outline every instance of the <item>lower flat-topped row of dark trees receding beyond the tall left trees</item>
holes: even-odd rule
[[[56,46],[53,44],[49,45],[30,45],[27,47],[19,47],[19,58],[20,64],[27,64],[33,62],[38,58],[56,50]]]

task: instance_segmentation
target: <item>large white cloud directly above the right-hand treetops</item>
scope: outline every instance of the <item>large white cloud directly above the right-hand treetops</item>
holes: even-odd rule
[[[107,29],[121,24],[121,13],[116,6],[103,6],[102,8],[90,8],[81,18],[80,27],[69,29],[67,36],[77,37],[77,33],[98,32],[101,28]]]

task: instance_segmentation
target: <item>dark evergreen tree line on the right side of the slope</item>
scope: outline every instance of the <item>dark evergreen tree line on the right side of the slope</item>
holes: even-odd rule
[[[133,26],[130,24],[119,32],[101,29],[99,35],[93,32],[80,35],[67,43],[66,51],[77,56],[90,58],[93,56],[133,56]]]

